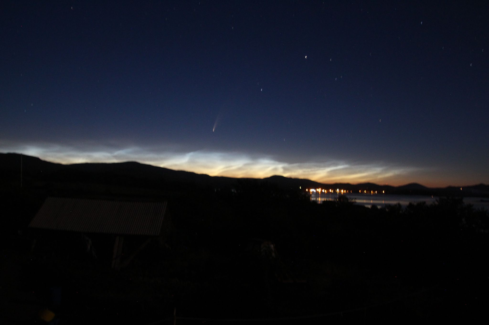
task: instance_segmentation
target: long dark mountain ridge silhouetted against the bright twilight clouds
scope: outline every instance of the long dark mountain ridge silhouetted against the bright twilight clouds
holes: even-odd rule
[[[0,172],[4,179],[14,180],[20,177],[20,153],[0,153]],[[326,184],[304,178],[286,177],[283,175],[271,175],[265,178],[235,178],[227,176],[210,176],[196,172],[178,171],[165,167],[158,167],[138,161],[124,161],[114,163],[75,163],[60,164],[43,160],[36,156],[22,154],[22,176],[25,180],[38,179],[49,181],[49,176],[57,181],[92,180],[110,182],[110,178],[125,177],[128,181],[138,183],[146,181],[150,183],[193,184],[200,187],[228,188],[235,187],[238,183],[254,182],[257,184],[270,183],[284,189],[304,190],[309,188],[344,189],[348,191],[386,191],[399,194],[431,194],[431,192],[457,193],[457,195],[481,195],[489,196],[489,186],[477,184],[473,186],[448,186],[445,188],[428,188],[419,183],[408,183],[401,186],[378,185],[375,183],[333,183]],[[121,183],[121,182],[119,182]],[[153,184],[155,185],[155,184]],[[152,186],[153,187],[153,186]],[[457,192],[457,189],[465,188],[465,191]]]

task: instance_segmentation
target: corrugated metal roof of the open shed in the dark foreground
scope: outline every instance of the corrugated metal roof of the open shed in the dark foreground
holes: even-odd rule
[[[48,197],[29,227],[157,236],[166,202],[124,202]]]

